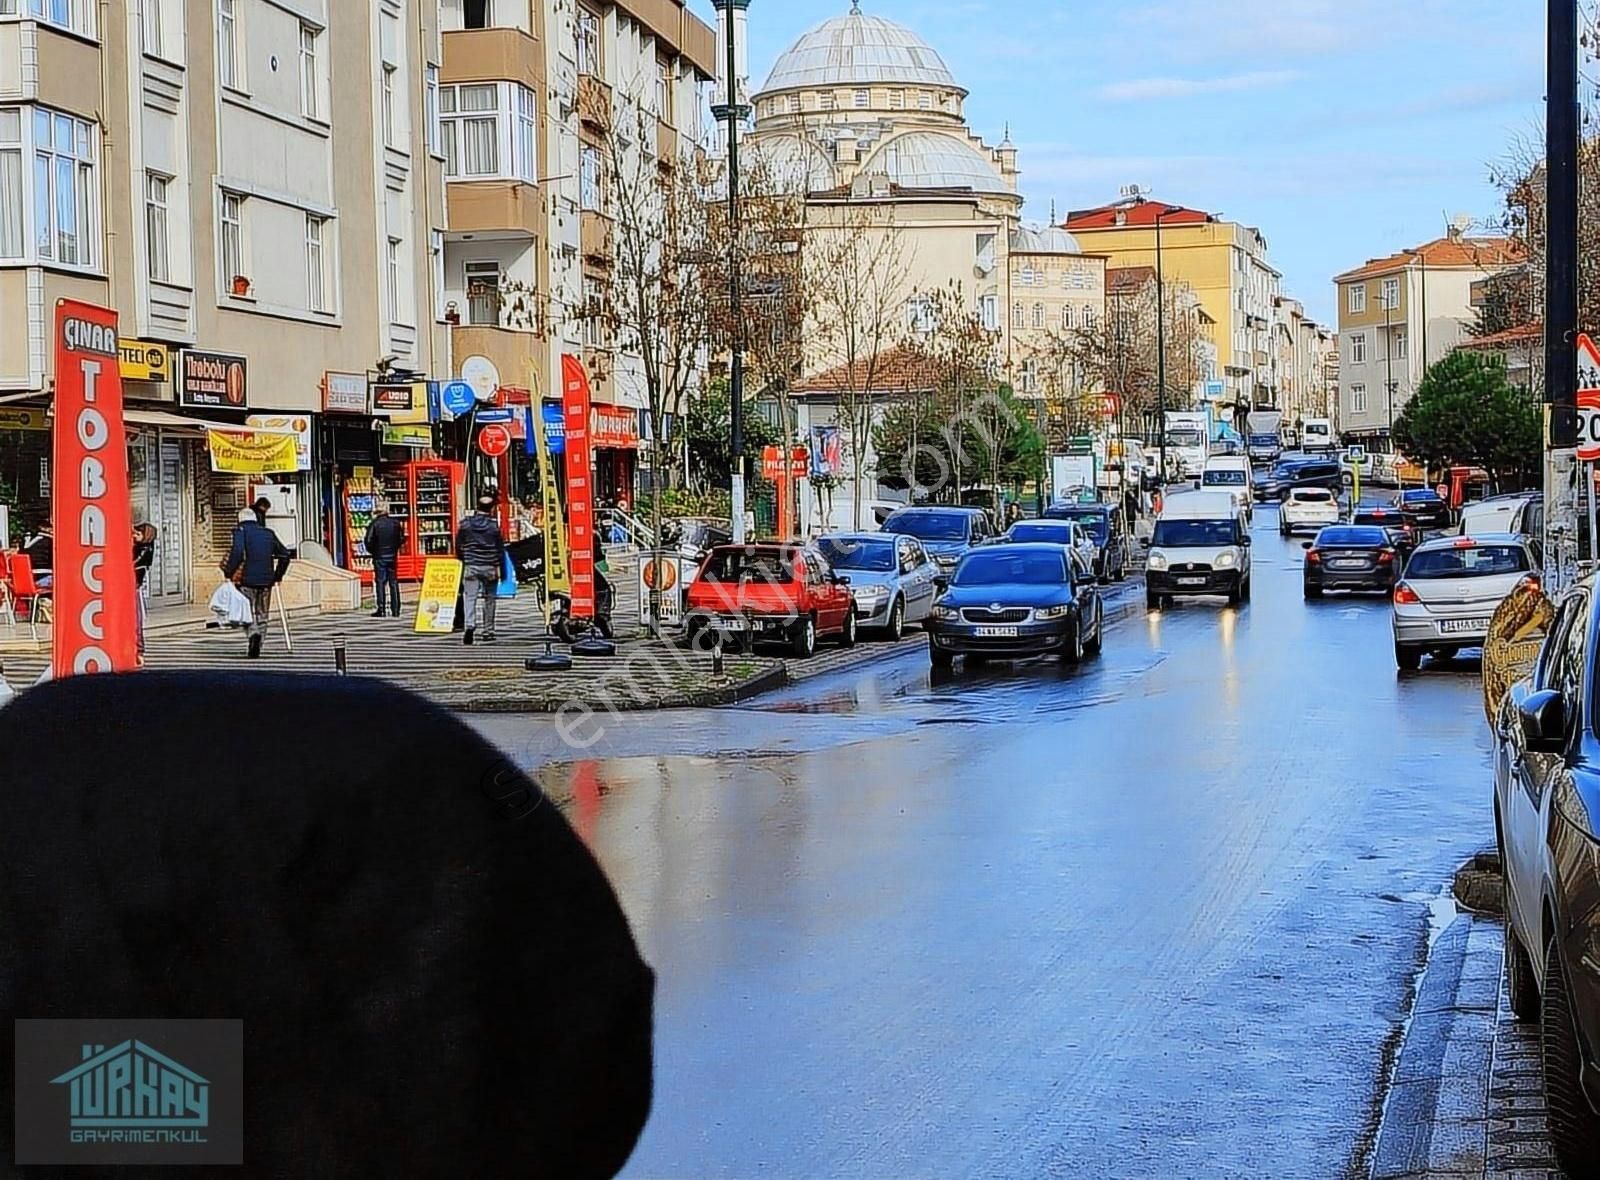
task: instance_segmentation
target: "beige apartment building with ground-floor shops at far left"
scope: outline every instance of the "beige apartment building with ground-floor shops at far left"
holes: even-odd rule
[[[74,297],[120,312],[155,606],[210,590],[253,491],[211,470],[208,425],[293,429],[280,529],[330,539],[339,464],[381,454],[370,385],[448,371],[426,294],[445,216],[437,64],[434,0],[0,0],[13,529],[48,512],[53,309]]]

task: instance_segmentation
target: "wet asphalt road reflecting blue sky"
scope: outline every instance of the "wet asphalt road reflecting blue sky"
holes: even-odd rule
[[[630,716],[550,785],[659,972],[634,1177],[1333,1177],[1429,902],[1493,843],[1472,657],[1382,598],[1136,616],[1082,668],[922,659]]]

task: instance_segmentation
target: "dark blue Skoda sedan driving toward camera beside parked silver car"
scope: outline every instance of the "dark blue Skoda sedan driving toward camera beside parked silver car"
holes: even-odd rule
[[[968,660],[1098,656],[1106,617],[1093,579],[1075,576],[1061,545],[986,545],[955,568],[925,624],[928,659]]]

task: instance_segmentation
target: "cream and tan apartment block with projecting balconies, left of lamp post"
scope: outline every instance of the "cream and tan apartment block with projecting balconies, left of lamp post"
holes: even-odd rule
[[[715,34],[682,0],[442,0],[440,21],[454,371],[488,361],[555,421],[560,357],[582,357],[597,494],[630,496],[643,363],[584,315],[613,277],[606,153],[669,161],[701,146]]]

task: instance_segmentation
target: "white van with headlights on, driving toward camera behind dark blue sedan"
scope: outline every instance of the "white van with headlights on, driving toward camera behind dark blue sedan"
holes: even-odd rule
[[[1144,568],[1149,609],[1160,609],[1179,595],[1227,595],[1230,603],[1250,601],[1250,528],[1232,492],[1170,496],[1149,548]]]

